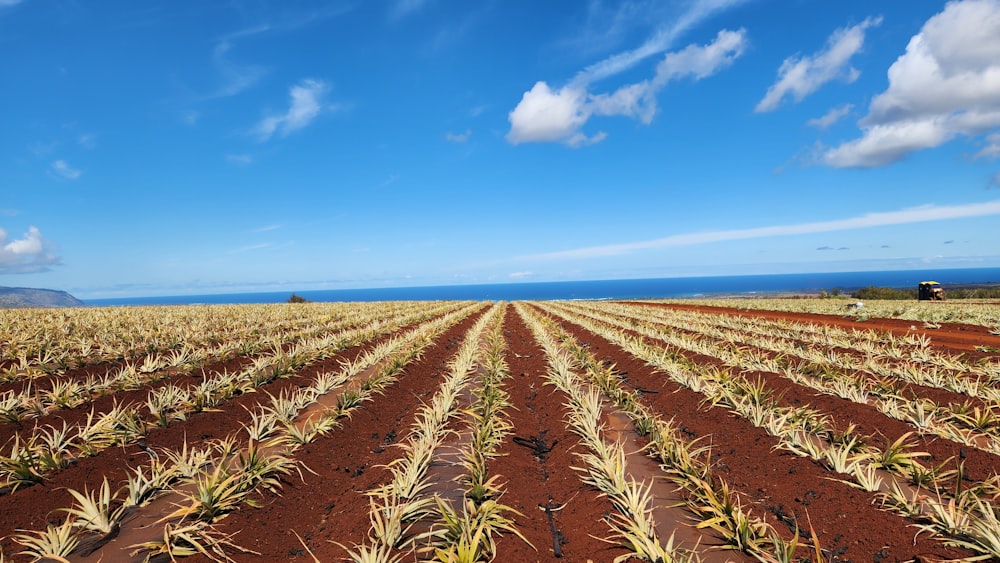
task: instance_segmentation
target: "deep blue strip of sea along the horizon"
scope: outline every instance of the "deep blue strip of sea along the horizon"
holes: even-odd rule
[[[813,293],[839,289],[844,293],[868,286],[912,288],[924,280],[944,284],[1000,283],[1000,268],[836,272],[825,274],[770,274],[631,280],[391,287],[378,289],[327,289],[294,291],[310,301],[519,301],[551,299],[642,299]],[[124,297],[84,300],[87,305],[191,305],[284,303],[292,291],[228,293],[161,297]]]

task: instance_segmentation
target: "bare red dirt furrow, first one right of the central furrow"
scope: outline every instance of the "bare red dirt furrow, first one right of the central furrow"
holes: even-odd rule
[[[926,535],[912,522],[872,506],[872,495],[830,480],[836,475],[811,460],[774,451],[777,440],[724,408],[701,406],[704,397],[681,387],[617,345],[562,321],[595,356],[613,362],[625,381],[690,438],[713,444],[713,471],[753,503],[753,513],[808,534],[811,522],[824,552],[837,561],[949,559],[970,554]],[[699,360],[700,361],[700,360]],[[653,392],[649,392],[653,391]]]

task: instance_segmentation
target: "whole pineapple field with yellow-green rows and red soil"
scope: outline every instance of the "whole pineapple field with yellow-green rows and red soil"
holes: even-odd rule
[[[998,309],[0,310],[0,550],[997,560]]]

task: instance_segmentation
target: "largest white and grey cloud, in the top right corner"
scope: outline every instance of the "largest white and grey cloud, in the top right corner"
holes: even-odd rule
[[[994,133],[1000,127],[1000,0],[945,5],[910,39],[888,77],[888,89],[859,122],[861,137],[825,151],[823,163],[885,166],[959,136]],[[994,154],[996,138],[987,143],[981,156]]]

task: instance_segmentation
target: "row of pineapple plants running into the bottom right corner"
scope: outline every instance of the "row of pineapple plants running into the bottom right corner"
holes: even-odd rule
[[[877,493],[875,501],[921,520],[926,531],[947,543],[987,557],[1000,555],[1000,522],[994,504],[1000,495],[1000,478],[995,473],[969,485],[962,474],[962,463],[950,471],[944,469],[945,464],[923,465],[921,459],[926,454],[907,442],[907,434],[880,448],[869,444],[868,437],[858,434],[853,426],[834,430],[829,413],[808,406],[783,405],[762,380],[692,362],[664,348],[663,331],[643,328],[614,314],[580,310],[584,308],[578,305],[545,308],[618,343],[674,381],[701,393],[708,403],[725,405],[766,429],[782,448],[849,476],[854,486]],[[903,483],[913,486],[904,487]],[[883,485],[888,491],[882,491]]]

